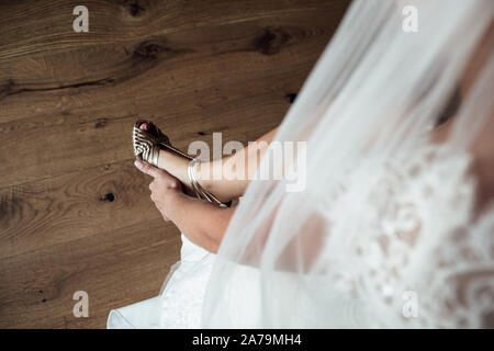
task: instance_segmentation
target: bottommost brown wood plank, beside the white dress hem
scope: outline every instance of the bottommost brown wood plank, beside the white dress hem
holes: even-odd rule
[[[0,328],[104,328],[110,309],[159,293],[179,251],[178,230],[155,219],[2,259]],[[88,318],[72,314],[76,291]]]

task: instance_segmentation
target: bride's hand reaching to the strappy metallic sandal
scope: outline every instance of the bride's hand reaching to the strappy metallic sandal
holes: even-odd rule
[[[170,220],[170,203],[177,196],[183,195],[182,184],[177,178],[170,176],[167,171],[153,167],[145,161],[136,160],[134,165],[139,171],[154,178],[154,180],[149,183],[149,190],[151,191],[150,199],[161,213],[165,220]]]

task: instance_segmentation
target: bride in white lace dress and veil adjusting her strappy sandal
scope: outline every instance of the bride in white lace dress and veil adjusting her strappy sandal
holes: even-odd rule
[[[181,260],[108,327],[493,328],[493,19],[490,0],[355,1],[279,128],[224,159],[138,121]]]

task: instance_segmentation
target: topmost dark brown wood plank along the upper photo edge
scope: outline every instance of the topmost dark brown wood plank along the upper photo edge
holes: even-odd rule
[[[87,0],[90,29],[89,33],[80,34],[71,26],[72,9],[79,2],[37,0],[33,5],[27,1],[2,1],[0,60],[259,19],[276,21],[305,10],[324,12],[327,26],[334,27],[348,3],[349,0]],[[141,10],[136,11],[134,4]]]

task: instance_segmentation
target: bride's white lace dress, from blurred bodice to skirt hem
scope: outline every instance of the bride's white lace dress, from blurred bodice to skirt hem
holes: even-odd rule
[[[265,297],[273,303],[270,314],[280,306],[270,321],[280,328],[493,327],[494,215],[491,210],[474,217],[468,167],[467,154],[449,157],[424,147],[406,162],[386,161],[377,186],[350,207],[346,201],[359,188],[349,174],[339,192],[312,203],[334,224],[323,233],[329,238],[324,270],[305,280],[271,272],[270,286],[282,293],[266,298],[261,272],[231,262],[234,273],[217,296],[223,314],[213,314],[207,326],[266,327]],[[355,219],[341,223],[340,211],[350,210],[358,212]],[[109,328],[201,327],[218,258],[183,235],[182,242],[181,261],[160,295],[112,310]],[[319,301],[314,291],[321,291]]]

